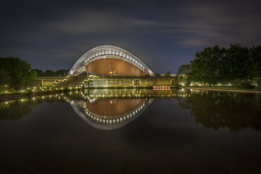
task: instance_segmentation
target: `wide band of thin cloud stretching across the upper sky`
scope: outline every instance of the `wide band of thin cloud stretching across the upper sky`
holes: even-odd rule
[[[177,4],[166,7],[166,11],[151,11],[131,15],[122,10],[105,11],[74,9],[62,11],[59,18],[35,21],[22,27],[19,32],[11,31],[12,36],[4,35],[5,41],[27,43],[69,40],[87,36],[162,36],[183,46],[208,46],[229,43],[258,44],[261,38],[260,11],[253,11],[253,4],[245,5],[218,2]],[[129,10],[128,10],[129,11]],[[162,13],[164,15],[162,15]],[[158,17],[156,17],[158,16]],[[12,29],[11,29],[12,30]]]

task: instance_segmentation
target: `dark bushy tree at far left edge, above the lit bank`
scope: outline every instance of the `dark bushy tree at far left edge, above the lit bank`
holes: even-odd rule
[[[28,85],[36,78],[36,72],[31,70],[28,62],[19,58],[0,58],[1,78],[11,86]]]

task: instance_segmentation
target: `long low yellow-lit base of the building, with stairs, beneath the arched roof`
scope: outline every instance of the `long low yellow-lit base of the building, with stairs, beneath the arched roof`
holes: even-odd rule
[[[33,86],[53,87],[153,87],[153,86],[177,86],[184,83],[178,76],[43,76],[37,77]]]

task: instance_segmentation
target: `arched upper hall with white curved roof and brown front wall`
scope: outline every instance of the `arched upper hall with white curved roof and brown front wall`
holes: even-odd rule
[[[154,76],[147,65],[132,53],[116,46],[98,46],[83,54],[69,71],[76,76],[82,72],[117,76]]]

